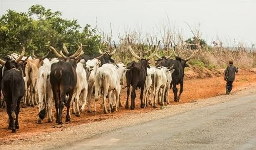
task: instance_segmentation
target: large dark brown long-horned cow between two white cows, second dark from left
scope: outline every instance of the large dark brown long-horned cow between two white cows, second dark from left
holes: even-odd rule
[[[48,45],[47,45],[48,46]],[[60,59],[59,62],[51,65],[50,84],[53,92],[56,109],[56,123],[62,124],[62,111],[64,104],[67,106],[66,121],[70,121],[70,102],[77,85],[76,63],[84,54],[82,44],[71,56],[65,56],[62,51],[59,53],[52,46],[48,46]],[[68,100],[66,100],[68,94]]]

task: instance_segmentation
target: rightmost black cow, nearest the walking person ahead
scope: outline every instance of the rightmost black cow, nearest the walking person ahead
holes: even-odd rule
[[[173,86],[172,91],[174,94],[175,102],[179,102],[181,93],[183,92],[183,79],[184,79],[184,75],[185,75],[184,69],[185,69],[185,67],[189,66],[186,62],[188,60],[190,60],[195,55],[196,52],[198,52],[198,50],[194,51],[193,54],[187,59],[181,59],[180,57],[176,56],[175,60],[172,60],[172,59],[169,60],[170,57],[168,57],[168,58],[165,58],[165,57],[159,58],[158,57],[159,60],[156,60],[157,67],[159,67],[159,66],[171,67],[173,65],[173,69],[175,69],[174,72],[171,74],[171,78],[172,78],[171,86]],[[179,95],[177,96],[178,89],[176,86],[178,84],[180,85],[180,90],[179,90]]]

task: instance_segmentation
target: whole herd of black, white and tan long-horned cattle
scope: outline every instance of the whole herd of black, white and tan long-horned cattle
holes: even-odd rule
[[[160,43],[160,41],[159,41]],[[179,101],[183,91],[184,68],[186,63],[197,51],[187,59],[176,56],[175,59],[159,57],[159,43],[153,47],[153,53],[148,58],[141,58],[132,50],[128,42],[128,50],[138,62],[131,61],[116,63],[111,56],[116,52],[106,51],[99,53],[99,57],[90,58],[84,54],[83,45],[78,45],[78,50],[70,55],[65,44],[63,52],[56,51],[49,46],[49,52],[53,52],[56,58],[47,59],[34,54],[24,57],[23,47],[20,55],[8,55],[5,60],[0,59],[0,91],[3,100],[0,105],[6,106],[9,126],[12,132],[19,129],[18,115],[20,103],[24,106],[38,105],[38,123],[47,116],[48,122],[52,122],[52,106],[55,103],[56,123],[62,124],[62,112],[67,107],[66,121],[70,121],[70,106],[72,113],[80,116],[87,103],[87,111],[90,112],[91,95],[94,92],[94,110],[96,115],[96,101],[102,95],[104,113],[117,111],[122,106],[120,101],[121,88],[127,88],[126,109],[128,109],[128,97],[131,90],[130,109],[135,108],[137,88],[140,89],[140,107],[145,108],[148,104],[156,108],[157,103],[164,106],[164,101],[170,104],[168,99],[169,90],[172,88],[174,101]],[[64,55],[65,54],[65,55]],[[175,54],[175,53],[174,53]],[[176,54],[175,54],[176,55]],[[149,60],[157,57],[154,67],[149,66]],[[127,86],[121,87],[124,81]],[[180,85],[177,95],[177,85]],[[1,99],[0,92],[0,99]],[[38,98],[37,98],[38,97]],[[108,99],[108,108],[106,105]],[[53,101],[54,100],[54,101]],[[5,102],[5,104],[3,104]]]

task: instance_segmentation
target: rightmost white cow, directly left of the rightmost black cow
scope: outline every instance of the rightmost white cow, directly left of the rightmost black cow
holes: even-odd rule
[[[155,69],[154,73],[151,75],[152,85],[154,89],[153,91],[155,96],[154,102],[153,102],[153,108],[156,108],[158,96],[159,96],[159,101],[161,103],[161,106],[164,106],[165,90],[167,87],[167,83],[170,82],[170,81],[168,82],[168,79],[170,80],[171,73],[174,71],[172,67],[171,68],[159,67]]]

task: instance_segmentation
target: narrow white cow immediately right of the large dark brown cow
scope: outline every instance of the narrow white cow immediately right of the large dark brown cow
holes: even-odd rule
[[[74,94],[71,99],[73,102],[73,111],[77,117],[80,116],[80,112],[84,111],[88,93],[88,82],[84,65],[85,60],[80,60],[80,62],[77,63],[77,85],[75,87]],[[79,109],[79,107],[81,108]]]

